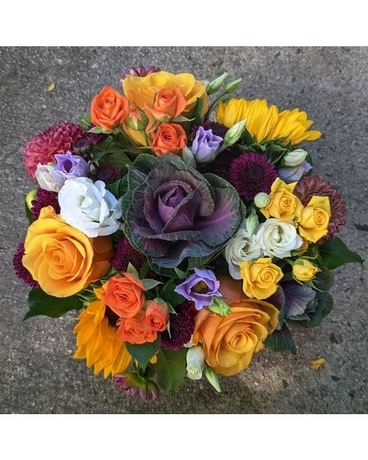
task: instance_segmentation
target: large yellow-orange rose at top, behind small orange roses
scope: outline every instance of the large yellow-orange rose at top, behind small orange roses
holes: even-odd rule
[[[185,106],[183,104],[181,115],[189,113],[196,105],[197,99],[202,100],[202,116],[208,109],[206,85],[203,82],[196,81],[195,77],[190,73],[172,74],[160,71],[150,73],[145,77],[129,75],[123,80],[123,89],[129,101],[141,109],[144,109],[146,105],[154,108],[157,95],[162,94],[164,90],[170,94],[180,90],[180,98],[184,97],[186,101]],[[178,114],[175,112],[175,115]]]

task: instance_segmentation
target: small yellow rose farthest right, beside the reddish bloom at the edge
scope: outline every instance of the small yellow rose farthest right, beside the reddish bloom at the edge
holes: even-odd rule
[[[300,236],[316,243],[327,235],[330,217],[331,207],[328,196],[313,196],[297,220]]]

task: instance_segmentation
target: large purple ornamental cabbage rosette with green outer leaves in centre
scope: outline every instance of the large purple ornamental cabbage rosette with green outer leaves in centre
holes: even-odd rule
[[[244,220],[235,188],[181,158],[140,154],[123,181],[124,233],[158,273],[215,257]]]

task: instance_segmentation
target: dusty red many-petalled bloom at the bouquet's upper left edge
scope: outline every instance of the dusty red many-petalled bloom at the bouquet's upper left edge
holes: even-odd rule
[[[42,131],[24,147],[23,161],[28,174],[35,177],[38,163],[55,162],[55,153],[73,153],[75,142],[84,136],[83,128],[75,123],[59,123]]]

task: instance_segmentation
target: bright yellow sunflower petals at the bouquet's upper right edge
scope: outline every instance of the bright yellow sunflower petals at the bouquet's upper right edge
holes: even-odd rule
[[[321,137],[316,130],[308,131],[313,121],[299,109],[282,112],[275,105],[268,106],[265,99],[230,99],[221,101],[216,111],[216,121],[230,128],[247,120],[246,128],[257,142],[284,139],[285,143],[297,145],[302,141],[315,141]]]

